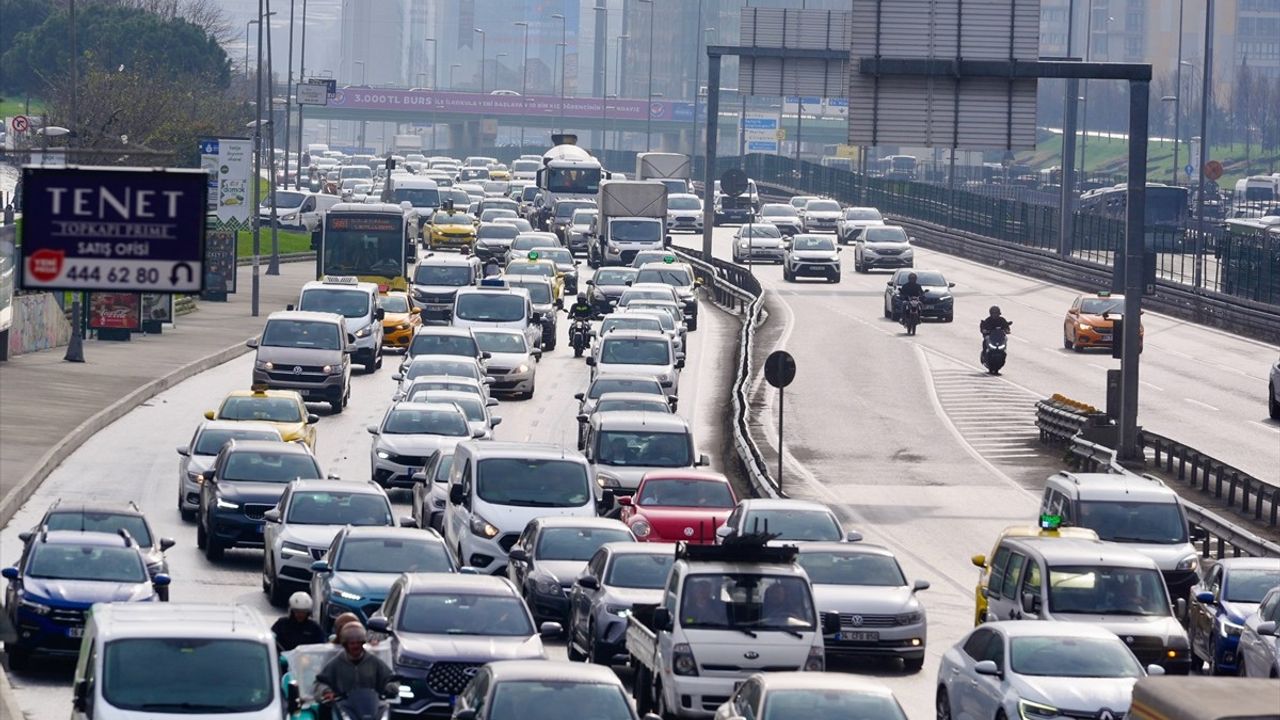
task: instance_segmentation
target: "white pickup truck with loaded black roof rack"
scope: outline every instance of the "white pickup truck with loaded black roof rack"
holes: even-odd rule
[[[795,546],[748,536],[719,546],[680,543],[668,601],[637,605],[626,650],[639,712],[710,717],[755,673],[822,671],[823,626]]]

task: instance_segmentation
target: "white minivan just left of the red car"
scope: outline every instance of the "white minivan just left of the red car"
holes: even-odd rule
[[[444,542],[460,565],[502,575],[530,520],[594,518],[612,495],[596,497],[586,457],[558,445],[463,441],[449,470]]]

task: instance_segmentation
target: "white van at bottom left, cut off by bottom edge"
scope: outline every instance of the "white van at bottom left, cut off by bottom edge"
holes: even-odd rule
[[[72,720],[288,716],[275,637],[244,605],[95,605],[72,687]]]

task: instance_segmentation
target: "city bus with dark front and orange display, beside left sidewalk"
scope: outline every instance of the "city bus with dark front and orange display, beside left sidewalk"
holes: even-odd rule
[[[417,211],[385,202],[339,202],[325,215],[316,278],[355,275],[379,292],[406,290],[416,258]]]

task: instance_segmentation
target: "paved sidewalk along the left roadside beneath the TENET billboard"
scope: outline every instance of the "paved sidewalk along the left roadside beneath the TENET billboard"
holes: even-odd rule
[[[257,318],[250,315],[252,269],[242,266],[228,302],[201,301],[160,336],[86,341],[83,364],[64,361],[63,347],[0,363],[0,525],[95,432],[157,392],[247,352],[244,341],[261,331],[266,315],[294,302],[314,273],[315,264],[303,261],[282,264],[279,277],[262,274]]]

